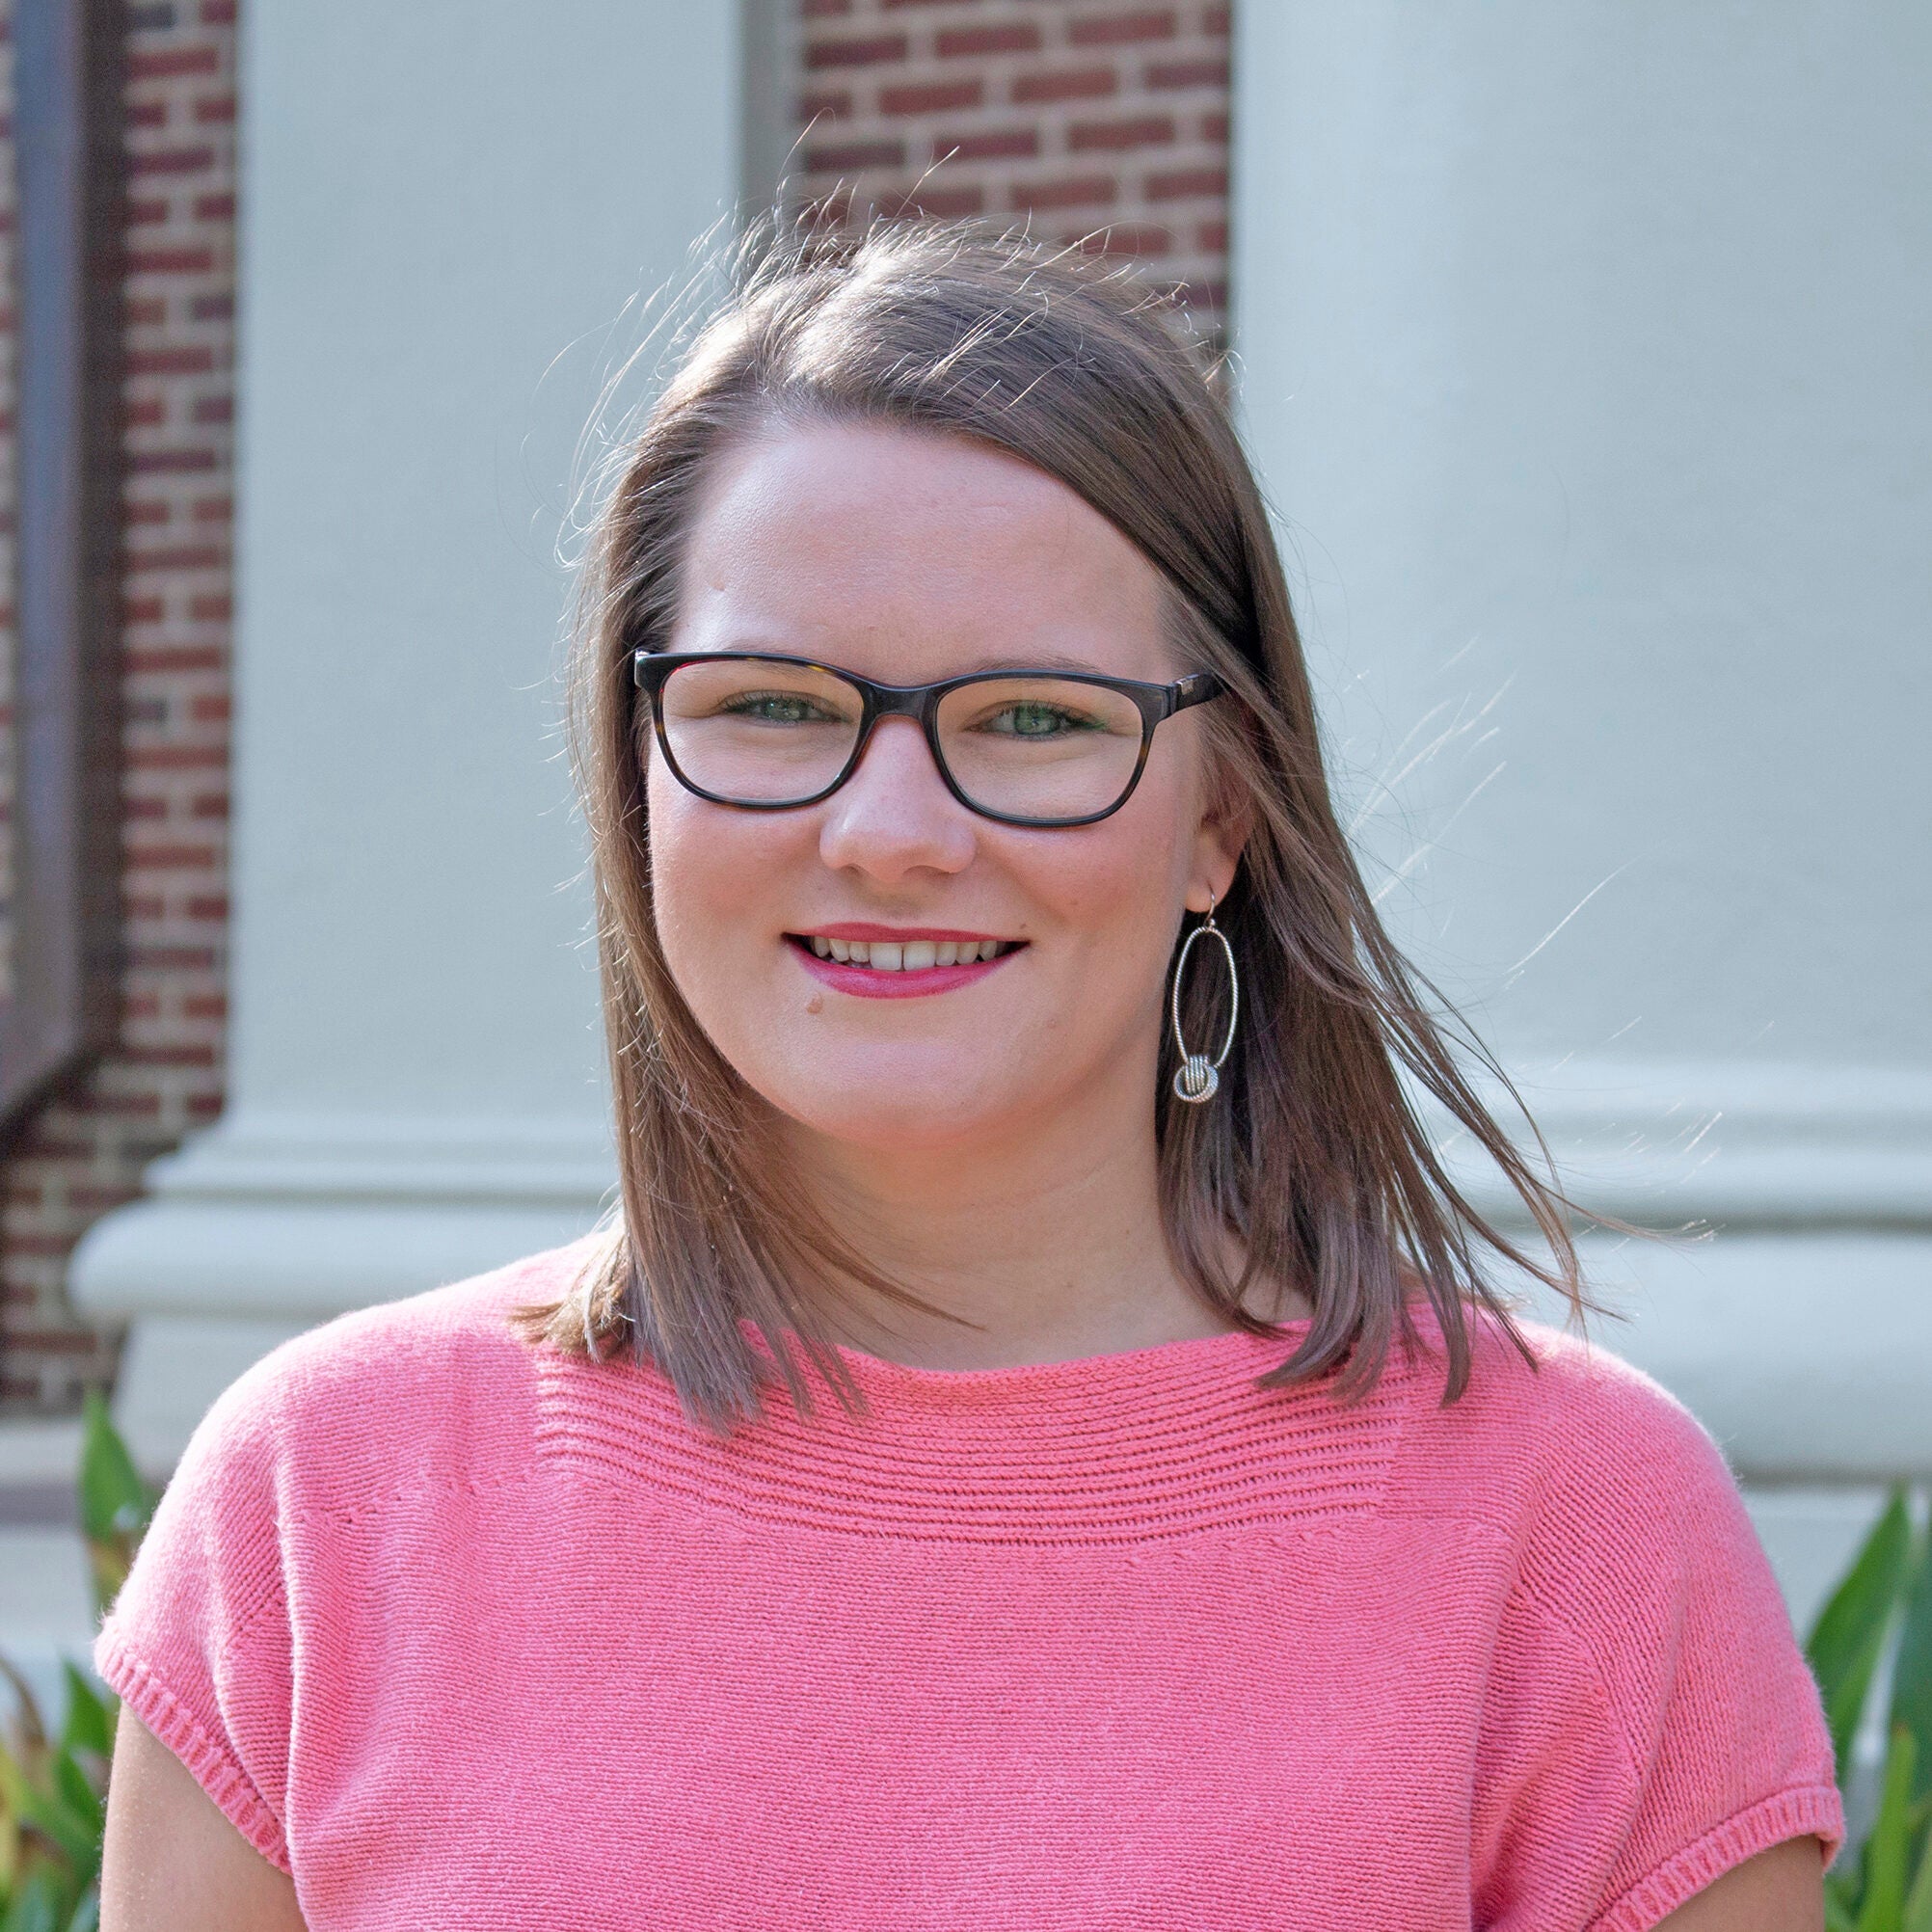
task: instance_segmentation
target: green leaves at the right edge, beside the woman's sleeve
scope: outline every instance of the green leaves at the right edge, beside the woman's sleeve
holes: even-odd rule
[[[1878,1718],[1886,1762],[1864,1841],[1826,1878],[1830,1932],[1932,1932],[1932,1540],[1903,1488],[1832,1594],[1804,1646],[1851,1812],[1853,1743]],[[1884,1708],[1868,1710],[1882,1665]]]

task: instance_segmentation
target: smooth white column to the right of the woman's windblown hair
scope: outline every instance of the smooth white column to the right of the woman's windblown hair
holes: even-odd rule
[[[1605,1341],[1752,1476],[1932,1472],[1932,21],[1238,33],[1242,402],[1391,916],[1586,1196],[1721,1225]]]

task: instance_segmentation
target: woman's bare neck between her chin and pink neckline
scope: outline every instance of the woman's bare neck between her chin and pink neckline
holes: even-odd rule
[[[1138,1122],[1113,1113],[1109,1122],[1105,1105],[1074,1105],[1026,1132],[910,1148],[790,1126],[788,1153],[831,1225],[889,1279],[962,1318],[852,1291],[827,1308],[838,1337],[887,1360],[966,1370],[1235,1327],[1169,1254],[1151,1105]]]

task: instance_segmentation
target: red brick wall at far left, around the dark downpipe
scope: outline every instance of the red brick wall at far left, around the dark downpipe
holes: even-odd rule
[[[68,1308],[68,1254],[220,1111],[234,0],[135,0],[126,17],[122,1018],[114,1051],[0,1148],[0,1412],[68,1410],[110,1378],[116,1337]],[[10,147],[0,172],[12,191]],[[6,328],[10,365],[10,299]]]

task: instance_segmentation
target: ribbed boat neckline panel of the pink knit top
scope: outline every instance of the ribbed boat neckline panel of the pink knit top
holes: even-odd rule
[[[1410,1376],[1397,1354],[1356,1405],[1321,1385],[1258,1387],[1304,1331],[981,1370],[838,1347],[866,1414],[848,1414],[802,1358],[811,1416],[777,1383],[763,1420],[723,1441],[684,1418],[657,1372],[553,1352],[537,1434],[545,1457],[626,1492],[856,1536],[1128,1544],[1308,1526],[1376,1507]]]

